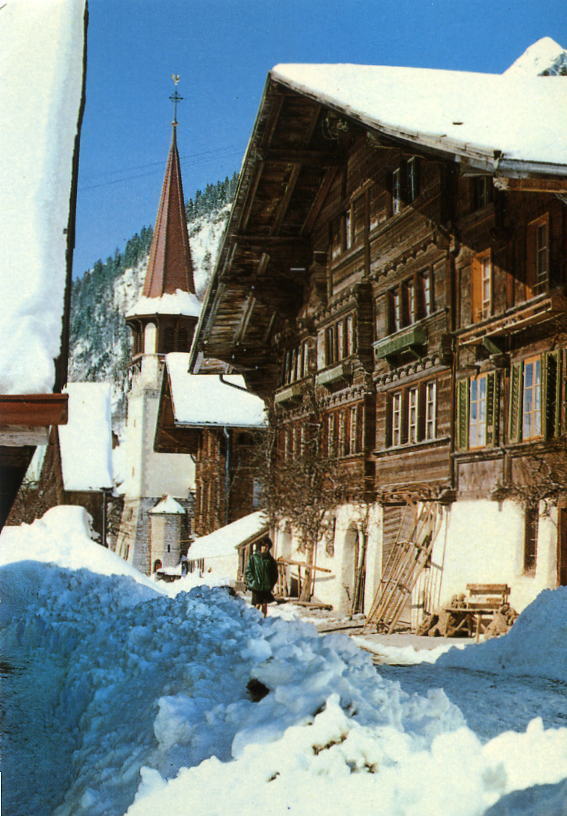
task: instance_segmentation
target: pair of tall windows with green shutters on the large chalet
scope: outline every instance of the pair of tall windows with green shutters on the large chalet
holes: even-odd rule
[[[512,364],[508,408],[510,443],[559,434],[563,380],[558,351]],[[458,450],[491,447],[499,442],[501,382],[491,371],[457,382]]]

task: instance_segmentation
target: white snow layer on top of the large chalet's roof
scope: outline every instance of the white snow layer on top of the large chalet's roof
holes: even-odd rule
[[[270,73],[386,135],[489,162],[500,151],[502,168],[505,160],[567,165],[562,77],[348,64]]]

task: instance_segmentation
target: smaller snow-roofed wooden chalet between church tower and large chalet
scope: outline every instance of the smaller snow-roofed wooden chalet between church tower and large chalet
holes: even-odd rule
[[[166,357],[154,447],[194,457],[193,529],[205,536],[259,509],[255,457],[266,418],[241,376],[218,366],[189,374],[188,362],[188,354]]]

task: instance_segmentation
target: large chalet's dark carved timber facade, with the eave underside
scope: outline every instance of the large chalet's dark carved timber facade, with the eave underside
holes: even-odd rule
[[[345,500],[501,500],[545,470],[561,506],[565,168],[548,191],[361,118],[269,79],[193,353],[273,397],[284,458],[314,394]]]

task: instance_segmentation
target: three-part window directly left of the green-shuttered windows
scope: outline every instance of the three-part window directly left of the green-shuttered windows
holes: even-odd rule
[[[389,397],[386,444],[397,447],[435,439],[436,412],[435,380],[394,391]]]

